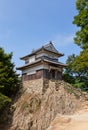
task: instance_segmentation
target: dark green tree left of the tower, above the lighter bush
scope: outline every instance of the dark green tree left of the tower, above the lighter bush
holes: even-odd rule
[[[18,84],[18,77],[11,59],[12,53],[6,54],[0,48],[0,92],[9,97],[15,93]]]

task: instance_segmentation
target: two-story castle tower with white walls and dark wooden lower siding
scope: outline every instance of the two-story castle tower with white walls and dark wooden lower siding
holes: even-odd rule
[[[30,82],[32,82],[32,85],[34,82],[37,86],[35,81],[39,79],[42,79],[40,84],[43,84],[43,86],[47,84],[44,81],[62,80],[62,71],[66,65],[59,62],[59,58],[63,55],[50,42],[37,50],[33,50],[32,53],[21,57],[20,59],[25,61],[25,65],[18,67],[17,70],[22,71],[24,86],[27,87]]]

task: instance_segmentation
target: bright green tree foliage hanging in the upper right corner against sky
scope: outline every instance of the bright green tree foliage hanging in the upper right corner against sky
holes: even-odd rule
[[[88,0],[76,0],[78,14],[73,23],[79,27],[74,41],[82,49],[88,48]]]

